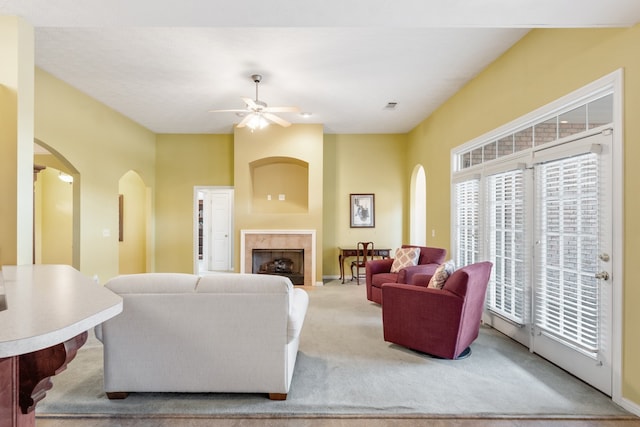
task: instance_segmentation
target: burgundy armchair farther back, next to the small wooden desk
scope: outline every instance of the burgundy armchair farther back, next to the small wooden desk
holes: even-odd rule
[[[406,267],[398,273],[391,273],[393,258],[376,259],[367,262],[365,267],[367,299],[382,304],[383,283],[410,283],[414,274],[432,275],[436,268],[444,262],[447,250],[426,246],[402,245],[403,248],[420,248],[418,265]]]

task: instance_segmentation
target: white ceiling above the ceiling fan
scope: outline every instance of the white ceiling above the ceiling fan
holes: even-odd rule
[[[638,0],[0,0],[36,65],[157,133],[232,133],[255,97],[326,133],[404,133],[531,28],[631,26]],[[397,102],[395,110],[385,109]]]

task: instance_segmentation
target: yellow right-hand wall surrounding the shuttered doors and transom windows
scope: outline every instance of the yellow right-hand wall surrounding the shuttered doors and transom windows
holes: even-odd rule
[[[407,170],[427,174],[427,230],[449,230],[450,150],[624,68],[625,238],[623,396],[640,403],[640,26],[627,29],[533,30],[409,134]],[[405,206],[406,207],[406,206]],[[450,247],[449,234],[433,245]]]

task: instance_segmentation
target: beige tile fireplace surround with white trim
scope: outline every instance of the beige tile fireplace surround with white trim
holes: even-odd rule
[[[240,272],[251,273],[254,249],[304,249],[304,285],[315,285],[315,230],[240,230]]]

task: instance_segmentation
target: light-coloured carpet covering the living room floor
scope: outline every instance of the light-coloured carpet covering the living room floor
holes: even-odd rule
[[[434,359],[384,342],[381,308],[367,301],[363,285],[334,281],[309,296],[286,401],[231,393],[133,393],[110,401],[102,390],[102,347],[90,338],[53,378],[37,414],[629,415],[493,329],[481,329],[469,358]]]

